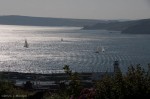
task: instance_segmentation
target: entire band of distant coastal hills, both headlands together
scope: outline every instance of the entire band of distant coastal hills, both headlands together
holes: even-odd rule
[[[7,15],[0,16],[1,25],[24,26],[73,26],[84,30],[121,31],[126,34],[150,34],[150,19],[141,20],[94,20]]]

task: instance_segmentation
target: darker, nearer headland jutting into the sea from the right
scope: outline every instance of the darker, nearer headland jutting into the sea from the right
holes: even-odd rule
[[[92,26],[84,26],[85,30],[112,30],[128,34],[150,34],[150,19],[112,21],[108,23],[97,23]]]

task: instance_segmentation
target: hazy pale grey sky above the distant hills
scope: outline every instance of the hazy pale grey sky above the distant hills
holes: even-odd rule
[[[150,18],[150,0],[0,0],[0,15],[143,19]]]

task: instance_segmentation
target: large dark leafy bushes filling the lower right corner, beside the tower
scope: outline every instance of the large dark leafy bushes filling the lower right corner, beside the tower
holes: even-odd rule
[[[149,72],[149,70],[148,70]],[[140,64],[128,67],[125,75],[115,72],[105,76],[96,84],[96,99],[149,99],[150,76]]]

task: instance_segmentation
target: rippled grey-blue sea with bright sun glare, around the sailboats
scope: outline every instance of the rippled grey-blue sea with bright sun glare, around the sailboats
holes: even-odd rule
[[[131,64],[150,63],[150,35],[80,29],[0,25],[0,71],[54,73],[65,64],[78,72],[113,71],[118,60],[125,72]]]

